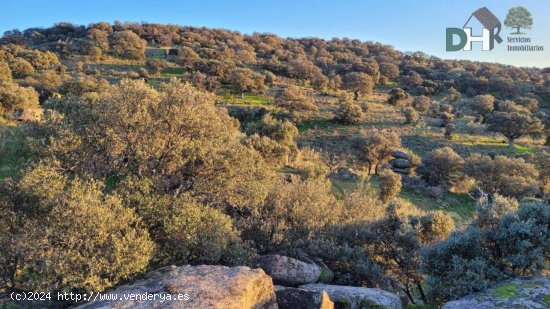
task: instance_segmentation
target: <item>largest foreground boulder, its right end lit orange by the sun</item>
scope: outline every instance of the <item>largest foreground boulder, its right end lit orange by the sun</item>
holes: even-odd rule
[[[78,308],[277,308],[271,278],[261,269],[242,266],[164,267],[110,293],[119,299],[125,295],[141,295],[142,299],[96,301]],[[157,300],[144,300],[147,294]],[[183,299],[174,300],[177,297]]]

